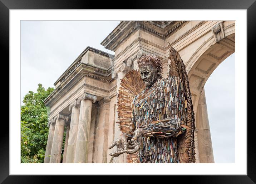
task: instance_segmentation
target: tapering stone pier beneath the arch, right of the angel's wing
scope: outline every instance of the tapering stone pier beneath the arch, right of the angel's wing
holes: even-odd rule
[[[198,129],[197,139],[200,163],[214,163],[204,88],[198,101],[196,128]]]

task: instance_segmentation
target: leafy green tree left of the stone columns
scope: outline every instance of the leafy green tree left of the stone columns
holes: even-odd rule
[[[54,91],[38,84],[37,93],[29,91],[21,106],[21,163],[43,163],[49,129],[44,100]]]

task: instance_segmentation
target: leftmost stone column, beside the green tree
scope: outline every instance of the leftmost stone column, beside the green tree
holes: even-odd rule
[[[54,118],[48,122],[48,127],[49,127],[49,134],[48,134],[47,145],[45,150],[44,163],[50,163],[51,147],[53,145],[53,136],[54,136],[54,129],[55,129]]]

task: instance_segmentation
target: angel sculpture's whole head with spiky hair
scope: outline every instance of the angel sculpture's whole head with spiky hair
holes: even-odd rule
[[[146,86],[152,86],[159,78],[162,78],[162,62],[153,54],[143,55],[137,60],[141,78]]]

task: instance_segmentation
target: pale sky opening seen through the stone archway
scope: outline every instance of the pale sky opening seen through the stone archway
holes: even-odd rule
[[[235,53],[213,71],[204,88],[215,163],[235,163]]]

